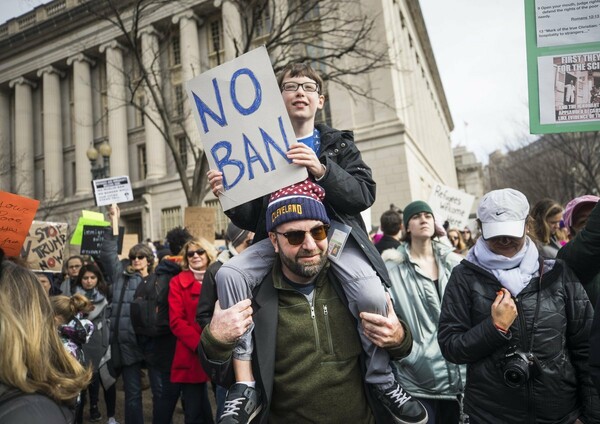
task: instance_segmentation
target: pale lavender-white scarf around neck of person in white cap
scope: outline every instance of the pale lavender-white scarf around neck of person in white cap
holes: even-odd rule
[[[492,252],[485,240],[479,238],[467,254],[467,260],[491,272],[513,296],[527,287],[539,272],[539,253],[529,237],[523,248],[512,258]]]

